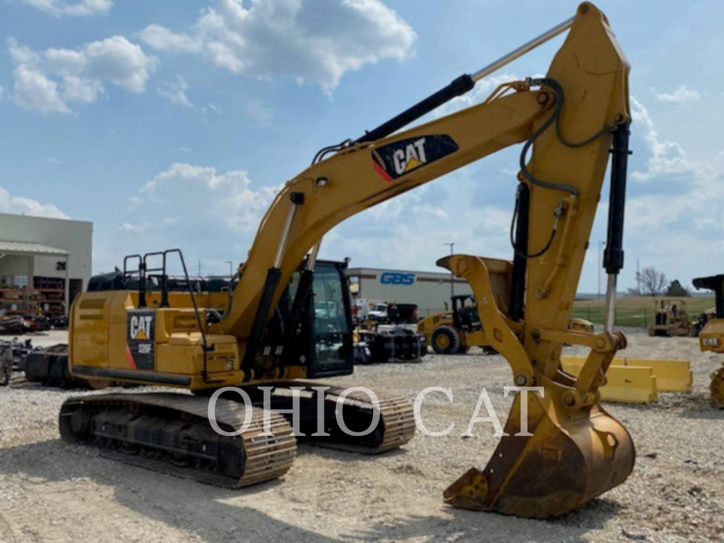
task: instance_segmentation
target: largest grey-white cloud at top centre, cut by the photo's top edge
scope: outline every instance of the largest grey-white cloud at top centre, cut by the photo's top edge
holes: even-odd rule
[[[203,55],[233,73],[292,77],[334,89],[345,72],[402,61],[416,35],[380,0],[218,0],[190,33],[153,24],[140,39],[154,49]]]

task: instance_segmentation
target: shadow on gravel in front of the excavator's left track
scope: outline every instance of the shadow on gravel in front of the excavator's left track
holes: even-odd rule
[[[222,489],[126,466],[103,458],[94,451],[90,447],[67,445],[61,439],[7,447],[0,449],[0,473],[22,476],[28,487],[90,479],[96,484],[112,487],[114,499],[119,505],[153,521],[195,534],[205,542],[334,541],[239,502],[246,497],[256,500],[272,490],[278,492],[277,487],[283,484],[283,479],[244,489]],[[83,497],[86,495],[83,494]],[[232,500],[235,503],[231,503]],[[79,502],[77,507],[83,507],[83,503]],[[278,513],[279,516],[284,515],[282,507]],[[98,520],[102,522],[102,519]]]

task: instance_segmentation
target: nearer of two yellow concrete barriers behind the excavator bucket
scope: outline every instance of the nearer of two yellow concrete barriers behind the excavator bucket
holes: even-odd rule
[[[561,357],[563,370],[578,375],[583,367],[584,358]],[[568,360],[566,360],[568,359]],[[573,359],[573,360],[571,360]],[[614,366],[608,367],[608,380],[599,388],[601,400],[621,403],[651,403],[659,399],[654,370],[648,366]]]

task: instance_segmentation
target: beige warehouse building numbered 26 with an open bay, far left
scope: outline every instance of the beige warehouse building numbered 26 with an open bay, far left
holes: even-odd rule
[[[0,214],[0,313],[62,316],[90,279],[93,223]]]

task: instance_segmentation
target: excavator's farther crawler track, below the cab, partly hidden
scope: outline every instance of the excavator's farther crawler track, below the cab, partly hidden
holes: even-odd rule
[[[271,394],[271,408],[289,409],[292,407],[288,387],[306,387],[300,391],[301,431],[306,434],[300,439],[313,445],[336,450],[358,452],[365,455],[376,455],[388,450],[397,449],[415,434],[415,417],[411,403],[400,395],[380,395],[375,392],[379,400],[379,422],[373,431],[366,436],[350,436],[340,428],[335,416],[337,399],[344,392],[345,387],[332,387],[317,382],[282,382],[274,383]],[[329,387],[324,390],[324,429],[329,437],[315,437],[311,434],[318,430],[317,406],[318,392],[311,387]],[[345,425],[353,432],[362,432],[372,421],[374,405],[365,392],[355,390],[345,397],[342,407],[342,419]],[[291,415],[289,415],[289,420]]]

